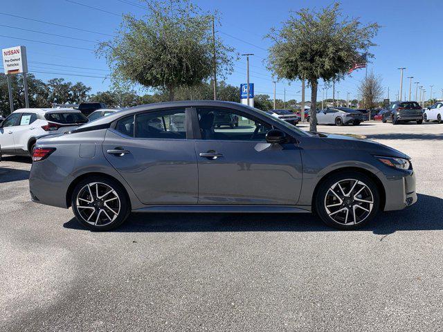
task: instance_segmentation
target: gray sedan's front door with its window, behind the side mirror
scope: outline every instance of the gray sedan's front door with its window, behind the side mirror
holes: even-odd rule
[[[238,127],[215,128],[218,113],[239,118]],[[242,111],[202,107],[193,126],[199,169],[199,204],[295,205],[300,196],[302,162],[294,142],[266,142],[272,120]]]

